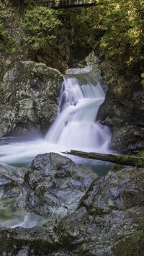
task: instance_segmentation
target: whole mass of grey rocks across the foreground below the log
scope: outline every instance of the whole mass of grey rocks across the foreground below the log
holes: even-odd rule
[[[143,255],[143,168],[116,166],[96,177],[50,153],[36,156],[30,169],[1,166],[0,181],[0,211],[11,198],[14,207],[45,217],[29,229],[3,225],[0,255]]]

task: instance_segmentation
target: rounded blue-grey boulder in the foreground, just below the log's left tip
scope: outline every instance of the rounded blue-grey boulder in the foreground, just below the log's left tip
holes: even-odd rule
[[[76,210],[95,178],[91,167],[73,164],[66,156],[40,154],[27,172],[28,208],[59,221]]]

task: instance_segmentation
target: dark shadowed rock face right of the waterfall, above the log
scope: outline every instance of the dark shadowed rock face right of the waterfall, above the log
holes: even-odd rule
[[[112,130],[112,149],[144,149],[144,104],[136,81],[120,81],[109,87],[98,119]]]

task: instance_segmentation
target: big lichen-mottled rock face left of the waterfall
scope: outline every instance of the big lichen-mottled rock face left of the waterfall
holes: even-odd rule
[[[1,86],[0,136],[47,131],[58,114],[63,76],[43,63],[24,61],[6,72]]]

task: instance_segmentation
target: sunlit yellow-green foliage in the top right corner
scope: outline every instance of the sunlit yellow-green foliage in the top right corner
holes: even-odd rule
[[[120,72],[144,60],[143,5],[141,0],[99,0],[94,25],[94,30],[103,32],[99,48],[105,59],[117,63]]]

